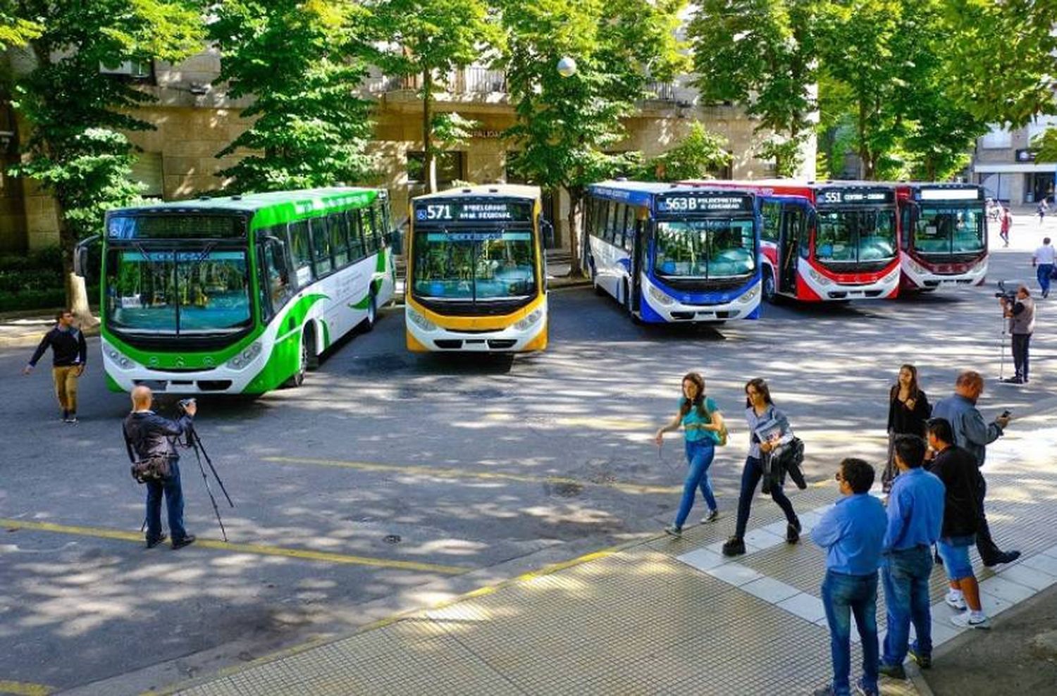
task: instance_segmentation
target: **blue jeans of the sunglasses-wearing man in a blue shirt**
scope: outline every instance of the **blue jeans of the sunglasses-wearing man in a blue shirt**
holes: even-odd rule
[[[830,655],[833,657],[833,693],[851,694],[851,615],[855,615],[863,641],[863,683],[877,690],[877,573],[849,576],[826,571],[822,604],[830,624]]]

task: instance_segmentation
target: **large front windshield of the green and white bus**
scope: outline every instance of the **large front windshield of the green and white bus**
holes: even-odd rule
[[[251,324],[243,250],[112,248],[107,321],[128,334],[224,334]]]

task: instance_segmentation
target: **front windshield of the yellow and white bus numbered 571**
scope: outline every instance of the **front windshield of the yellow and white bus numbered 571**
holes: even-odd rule
[[[489,300],[536,293],[530,230],[420,231],[414,294],[428,300]]]

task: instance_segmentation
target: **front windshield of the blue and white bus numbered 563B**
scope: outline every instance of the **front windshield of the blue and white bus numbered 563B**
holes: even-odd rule
[[[653,272],[670,280],[747,276],[756,270],[753,220],[659,222]]]

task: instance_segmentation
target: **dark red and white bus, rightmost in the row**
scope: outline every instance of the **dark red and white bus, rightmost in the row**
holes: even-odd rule
[[[897,184],[903,288],[980,285],[987,275],[984,189],[975,184]]]

